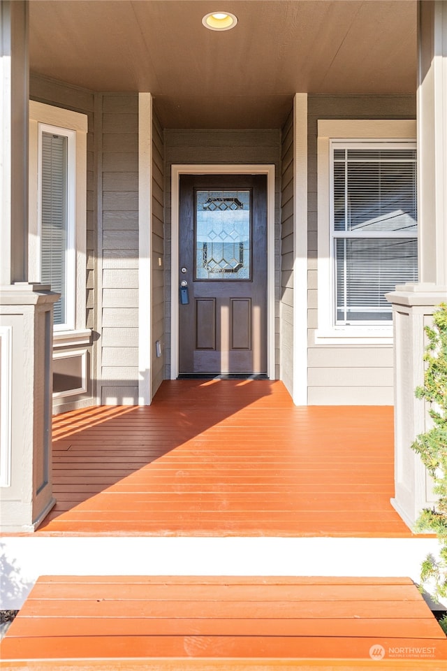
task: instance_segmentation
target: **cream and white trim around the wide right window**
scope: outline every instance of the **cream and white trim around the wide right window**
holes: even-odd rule
[[[333,323],[333,276],[330,250],[331,140],[416,141],[416,120],[318,120],[318,328],[316,345],[390,345],[393,325]]]

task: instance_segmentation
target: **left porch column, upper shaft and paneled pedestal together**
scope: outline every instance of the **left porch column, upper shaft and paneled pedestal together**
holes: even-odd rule
[[[0,531],[32,531],[51,486],[52,306],[28,282],[28,3],[0,0]]]

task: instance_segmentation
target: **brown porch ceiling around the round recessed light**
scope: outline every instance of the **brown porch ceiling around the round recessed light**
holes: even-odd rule
[[[225,10],[235,29],[201,19]],[[149,91],[164,127],[279,127],[295,92],[411,94],[416,0],[31,0],[31,71]]]

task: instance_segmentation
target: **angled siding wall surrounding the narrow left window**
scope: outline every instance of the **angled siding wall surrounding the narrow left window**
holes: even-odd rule
[[[95,159],[94,159],[94,94],[87,89],[80,89],[66,85],[62,82],[46,79],[38,75],[30,75],[29,96],[47,105],[74,110],[86,114],[88,117],[87,134],[87,254],[86,254],[86,327],[94,329],[96,322],[96,308],[94,301],[94,273],[96,266],[96,240],[95,240],[95,213],[94,213],[94,189],[95,189]],[[95,403],[94,389],[94,345],[68,345],[58,346],[54,342],[53,352],[58,357],[59,366],[64,365],[64,354],[73,352],[85,352],[87,368],[87,391],[82,394],[67,394],[53,400],[53,412],[65,412],[76,407],[84,407]],[[59,358],[61,357],[61,358]],[[72,359],[73,360],[73,359]]]

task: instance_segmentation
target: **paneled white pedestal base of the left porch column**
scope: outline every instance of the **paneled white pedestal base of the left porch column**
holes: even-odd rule
[[[40,284],[1,287],[0,531],[34,531],[52,497],[52,307]]]

